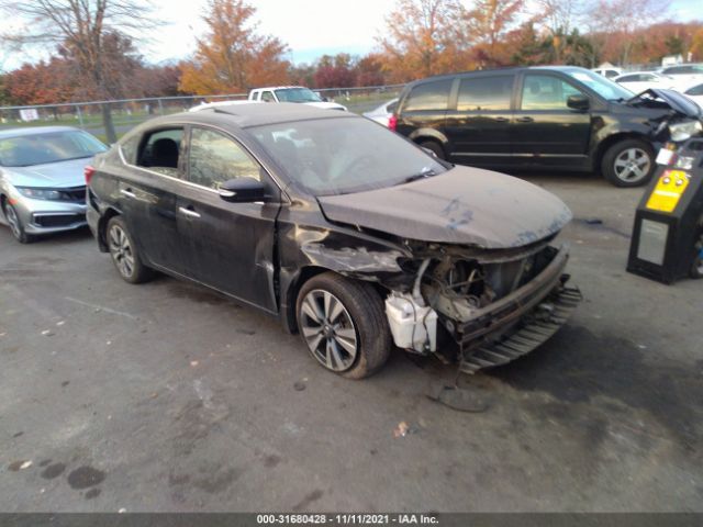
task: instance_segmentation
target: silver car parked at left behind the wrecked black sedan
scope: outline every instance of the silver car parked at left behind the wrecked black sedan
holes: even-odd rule
[[[68,126],[0,132],[0,210],[15,239],[86,225],[86,160],[107,146]]]

